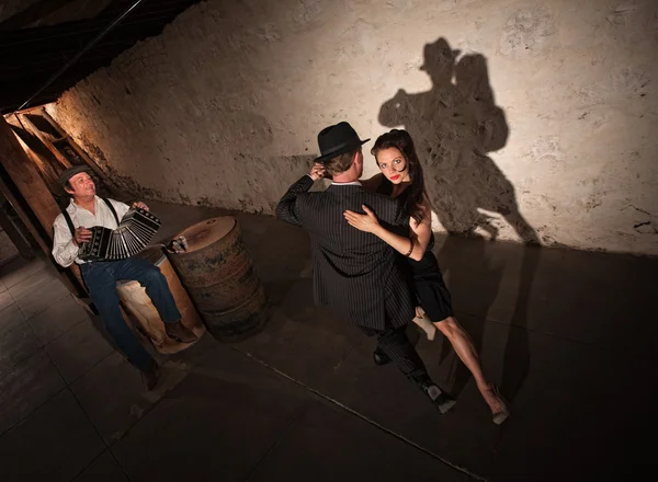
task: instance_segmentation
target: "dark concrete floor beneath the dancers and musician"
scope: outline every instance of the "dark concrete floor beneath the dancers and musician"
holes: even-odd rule
[[[218,213],[151,208],[162,240]],[[441,337],[418,347],[457,398],[445,416],[313,306],[302,230],[238,219],[268,326],[161,358],[150,393],[47,262],[0,268],[2,481],[634,480],[655,464],[658,260],[439,240],[457,317],[513,404],[498,427]]]

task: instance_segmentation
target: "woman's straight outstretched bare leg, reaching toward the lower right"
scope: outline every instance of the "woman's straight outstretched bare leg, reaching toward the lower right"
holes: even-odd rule
[[[504,401],[496,393],[494,386],[487,380],[479,363],[479,356],[470,336],[453,317],[435,322],[434,325],[445,335],[460,359],[473,374],[477,388],[492,413],[507,411]]]

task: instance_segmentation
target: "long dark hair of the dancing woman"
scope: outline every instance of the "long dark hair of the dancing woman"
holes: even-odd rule
[[[405,209],[407,216],[413,218],[416,222],[420,223],[424,217],[429,216],[430,214],[426,213],[426,210],[422,208],[423,200],[427,197],[424,192],[424,177],[422,175],[422,165],[418,160],[418,154],[416,153],[416,148],[413,147],[413,139],[411,139],[411,136],[406,130],[393,129],[377,137],[371,153],[375,157],[375,159],[377,159],[377,153],[381,150],[392,147],[399,149],[405,157],[407,167],[409,169],[409,179],[411,180],[411,183],[407,187],[408,190],[411,190],[411,192],[407,196],[402,208]]]

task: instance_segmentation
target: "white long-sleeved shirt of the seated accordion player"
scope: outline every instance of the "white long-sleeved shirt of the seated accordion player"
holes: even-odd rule
[[[116,229],[118,227],[116,225],[116,219],[114,219],[114,215],[105,202],[99,196],[94,197],[95,216],[83,207],[78,206],[71,198],[66,211],[71,217],[73,227],[78,228],[81,226],[83,228],[93,228],[94,226],[103,226],[109,229]],[[118,216],[120,220],[131,208],[125,203],[114,199],[109,200],[112,203],[114,210],[116,210],[116,216]],[[82,264],[84,261],[78,257],[79,250],[80,246],[77,246],[73,242],[71,230],[69,229],[64,215],[57,216],[57,218],[55,218],[55,222],[53,223],[53,257],[55,257],[55,261],[64,267],[70,266],[73,264],[73,261],[78,264]]]

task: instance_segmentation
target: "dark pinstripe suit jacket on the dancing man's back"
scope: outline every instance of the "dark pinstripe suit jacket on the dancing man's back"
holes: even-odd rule
[[[395,251],[374,234],[345,220],[350,209],[368,206],[387,229],[408,236],[408,223],[396,199],[366,193],[360,185],[332,185],[308,193],[314,181],[305,175],[276,207],[276,217],[302,226],[310,234],[314,297],[360,326],[384,330],[402,326],[415,315],[409,286]],[[404,261],[404,260],[402,260]]]

